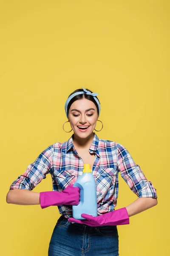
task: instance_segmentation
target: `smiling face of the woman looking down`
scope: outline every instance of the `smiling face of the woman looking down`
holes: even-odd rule
[[[98,119],[96,105],[89,99],[78,99],[73,104],[68,111],[68,120],[70,122],[71,128],[80,138],[86,138],[91,133],[93,133],[96,127],[96,122]],[[79,127],[87,127],[81,129]]]

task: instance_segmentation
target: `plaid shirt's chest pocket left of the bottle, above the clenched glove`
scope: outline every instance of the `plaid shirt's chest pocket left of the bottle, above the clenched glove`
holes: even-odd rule
[[[74,169],[64,170],[64,171],[54,171],[55,180],[57,185],[63,190],[68,185],[74,184],[75,182],[75,172]]]

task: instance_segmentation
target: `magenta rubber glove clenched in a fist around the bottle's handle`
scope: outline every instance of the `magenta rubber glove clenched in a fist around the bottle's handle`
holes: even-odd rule
[[[42,209],[52,205],[77,205],[80,201],[80,189],[73,184],[68,185],[61,192],[46,191],[40,192],[40,206]]]

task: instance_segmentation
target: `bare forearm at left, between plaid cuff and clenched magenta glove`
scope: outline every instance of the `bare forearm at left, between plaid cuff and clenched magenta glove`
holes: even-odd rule
[[[20,205],[40,204],[40,193],[28,189],[10,189],[6,195],[6,202]]]

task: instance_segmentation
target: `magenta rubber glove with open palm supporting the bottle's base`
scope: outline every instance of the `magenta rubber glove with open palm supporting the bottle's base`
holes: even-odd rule
[[[92,215],[82,213],[81,216],[86,218],[86,220],[77,220],[75,218],[68,218],[70,222],[76,222],[79,224],[86,224],[91,227],[95,226],[116,226],[129,224],[129,215],[127,213],[126,207],[113,210],[112,212],[107,212],[103,215],[93,217]]]

